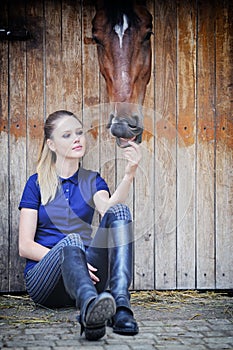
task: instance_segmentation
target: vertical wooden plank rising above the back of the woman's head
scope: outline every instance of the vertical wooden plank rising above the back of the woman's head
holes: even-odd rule
[[[61,0],[45,0],[46,117],[63,109]]]

